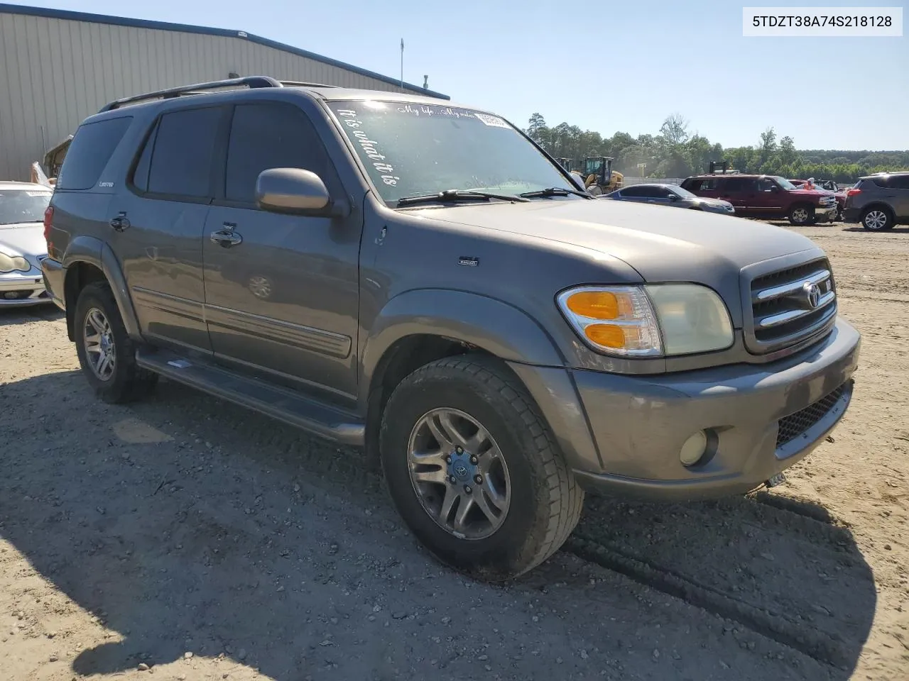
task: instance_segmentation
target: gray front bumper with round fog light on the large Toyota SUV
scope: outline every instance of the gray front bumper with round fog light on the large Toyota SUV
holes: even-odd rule
[[[759,487],[812,451],[843,417],[860,344],[858,331],[840,320],[821,344],[769,365],[650,377],[574,370],[601,464],[574,472],[586,488],[654,500]],[[679,450],[701,429],[708,460],[685,468]]]

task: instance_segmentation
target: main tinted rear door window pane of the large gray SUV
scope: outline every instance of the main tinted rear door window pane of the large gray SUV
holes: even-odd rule
[[[161,116],[148,171],[148,191],[211,196],[212,157],[223,109],[187,109]],[[140,159],[141,161],[141,159]]]

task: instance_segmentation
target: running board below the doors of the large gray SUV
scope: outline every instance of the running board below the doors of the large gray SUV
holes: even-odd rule
[[[143,369],[284,421],[321,438],[354,447],[364,445],[365,424],[362,419],[294,390],[246,378],[205,360],[188,359],[170,350],[138,350],[135,362]]]

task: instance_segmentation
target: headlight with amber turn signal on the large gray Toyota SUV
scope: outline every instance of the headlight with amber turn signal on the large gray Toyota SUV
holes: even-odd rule
[[[685,355],[733,344],[726,306],[697,284],[581,286],[556,301],[574,331],[608,355]]]

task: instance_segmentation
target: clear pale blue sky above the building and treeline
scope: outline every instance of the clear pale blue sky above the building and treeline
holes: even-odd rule
[[[405,81],[428,74],[431,89],[521,127],[538,112],[637,136],[682,114],[724,146],[756,144],[773,126],[799,149],[909,149],[906,0],[14,4],[241,30],[395,78],[403,38]],[[744,37],[743,5],[902,6],[904,36]]]

